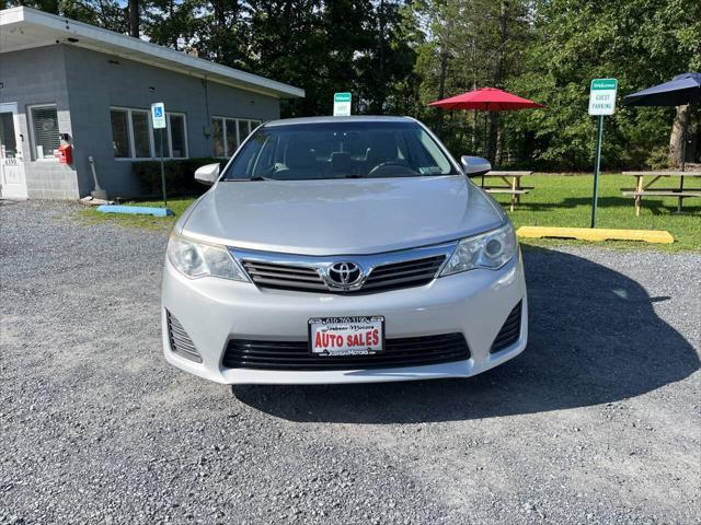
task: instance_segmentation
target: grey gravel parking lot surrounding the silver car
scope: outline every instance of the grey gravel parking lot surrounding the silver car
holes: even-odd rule
[[[0,206],[0,523],[701,523],[701,255],[525,250],[469,381],[238,387],[161,357],[162,232]]]

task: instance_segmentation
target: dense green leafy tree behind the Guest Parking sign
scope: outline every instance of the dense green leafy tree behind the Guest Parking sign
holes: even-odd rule
[[[586,114],[589,81],[618,78],[624,95],[694,67],[701,42],[694,12],[697,0],[537,1],[525,70],[507,85],[548,109],[514,115],[509,145],[544,167],[589,168],[595,136],[595,120]],[[619,106],[606,119],[605,165],[655,162],[666,151],[673,118],[669,108]]]

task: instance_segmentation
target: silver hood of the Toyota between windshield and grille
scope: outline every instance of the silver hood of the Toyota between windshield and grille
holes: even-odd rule
[[[180,224],[183,235],[304,255],[426,246],[498,228],[498,206],[462,175],[220,182]]]

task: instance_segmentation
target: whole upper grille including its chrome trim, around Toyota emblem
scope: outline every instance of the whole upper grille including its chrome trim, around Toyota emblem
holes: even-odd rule
[[[371,255],[306,256],[230,248],[251,281],[260,288],[312,293],[379,293],[433,281],[457,242]],[[352,261],[366,276],[361,283],[338,289],[327,281],[329,268]]]

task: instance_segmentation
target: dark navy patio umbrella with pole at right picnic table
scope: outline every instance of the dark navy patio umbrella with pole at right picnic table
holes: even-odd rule
[[[701,73],[681,73],[669,82],[653,85],[623,98],[628,106],[683,106],[701,103]],[[683,121],[681,138],[681,171],[687,153],[687,124]],[[683,184],[683,178],[681,179]]]

